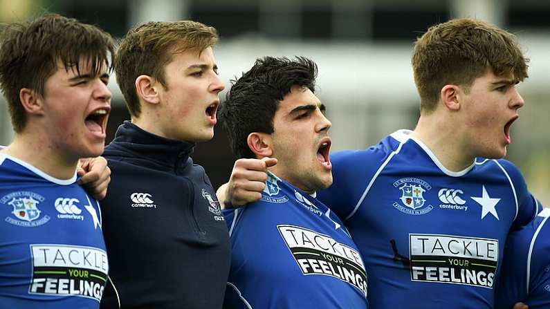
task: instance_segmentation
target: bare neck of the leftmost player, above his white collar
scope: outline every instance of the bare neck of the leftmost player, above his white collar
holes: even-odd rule
[[[17,133],[12,144],[1,153],[23,160],[59,180],[71,179],[78,164],[78,158],[57,149],[44,132]]]

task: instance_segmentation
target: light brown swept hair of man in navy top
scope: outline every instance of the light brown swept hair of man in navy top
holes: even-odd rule
[[[217,40],[215,28],[196,21],[151,21],[129,30],[120,41],[115,72],[130,114],[138,117],[141,112],[135,84],[139,75],[149,75],[167,88],[164,69],[172,55],[186,50],[200,53]]]

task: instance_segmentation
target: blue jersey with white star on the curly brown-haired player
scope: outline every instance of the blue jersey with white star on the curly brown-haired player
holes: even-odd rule
[[[537,208],[510,162],[448,171],[407,130],[331,162],[319,198],[359,247],[373,308],[493,307],[506,235]]]

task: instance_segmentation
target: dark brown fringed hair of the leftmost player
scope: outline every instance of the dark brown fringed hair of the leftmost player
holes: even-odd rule
[[[0,86],[15,132],[21,132],[27,120],[19,101],[21,88],[33,89],[44,97],[46,79],[57,71],[59,62],[67,70],[75,67],[80,73],[80,62],[86,59],[91,73],[97,75],[103,64],[113,64],[113,57],[111,35],[76,19],[44,15],[7,25],[0,35]]]

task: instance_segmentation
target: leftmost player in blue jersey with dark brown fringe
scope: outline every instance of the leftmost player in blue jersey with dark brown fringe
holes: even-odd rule
[[[15,131],[0,151],[3,308],[99,308],[109,269],[101,214],[76,169],[103,151],[113,55],[106,32],[59,15],[0,35]]]

